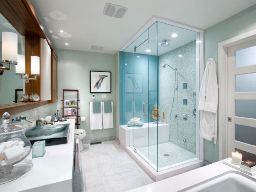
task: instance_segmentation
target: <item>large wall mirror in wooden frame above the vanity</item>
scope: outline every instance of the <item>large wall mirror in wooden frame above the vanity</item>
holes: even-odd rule
[[[2,61],[2,32],[17,34],[17,53],[25,56],[25,36],[20,35],[0,14],[0,61]],[[16,74],[15,65],[12,65],[11,70],[0,70],[0,106],[20,102],[23,93],[25,93],[25,80],[20,79]]]

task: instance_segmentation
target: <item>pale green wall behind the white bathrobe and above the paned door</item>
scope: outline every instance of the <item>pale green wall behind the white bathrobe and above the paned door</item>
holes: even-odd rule
[[[212,57],[218,68],[218,43],[256,29],[256,5],[207,28],[205,33],[205,62]],[[204,140],[204,159],[218,161],[218,143]]]

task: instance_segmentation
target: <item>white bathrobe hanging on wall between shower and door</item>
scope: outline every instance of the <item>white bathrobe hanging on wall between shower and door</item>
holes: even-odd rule
[[[200,137],[217,140],[218,83],[214,59],[207,60],[199,91],[198,111],[200,115]]]

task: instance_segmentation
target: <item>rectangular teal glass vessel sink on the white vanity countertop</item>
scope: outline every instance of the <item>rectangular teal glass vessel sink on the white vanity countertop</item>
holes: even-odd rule
[[[39,140],[45,140],[45,145],[68,143],[69,124],[35,126],[25,133],[31,145]]]

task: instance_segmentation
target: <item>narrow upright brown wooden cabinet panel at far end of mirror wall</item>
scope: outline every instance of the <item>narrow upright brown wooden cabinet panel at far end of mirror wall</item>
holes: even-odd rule
[[[52,103],[58,100],[58,57],[57,54],[52,50],[52,78],[51,78],[51,92],[52,92]]]

